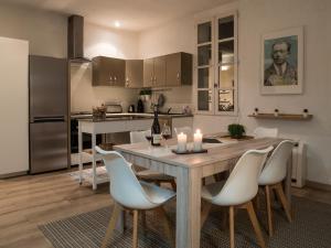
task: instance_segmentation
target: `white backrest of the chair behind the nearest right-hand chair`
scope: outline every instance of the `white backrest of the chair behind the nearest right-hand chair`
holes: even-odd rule
[[[293,145],[295,143],[290,140],[284,140],[277,145],[261,171],[258,180],[259,184],[279,183],[286,177],[287,162]]]

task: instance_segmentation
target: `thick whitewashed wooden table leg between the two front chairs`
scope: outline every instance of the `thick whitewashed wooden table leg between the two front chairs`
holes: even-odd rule
[[[178,168],[177,248],[200,248],[201,181],[200,168]]]

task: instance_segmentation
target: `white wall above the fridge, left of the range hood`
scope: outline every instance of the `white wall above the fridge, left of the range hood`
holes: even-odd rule
[[[0,36],[26,40],[29,53],[66,57],[66,17],[0,3]]]

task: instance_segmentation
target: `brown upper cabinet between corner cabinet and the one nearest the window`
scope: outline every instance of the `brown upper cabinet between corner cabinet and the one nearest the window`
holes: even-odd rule
[[[143,61],[143,87],[166,86],[166,56]]]

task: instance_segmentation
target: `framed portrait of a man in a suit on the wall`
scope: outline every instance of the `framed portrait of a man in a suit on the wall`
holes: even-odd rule
[[[303,28],[263,35],[261,95],[302,94]]]

